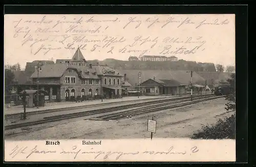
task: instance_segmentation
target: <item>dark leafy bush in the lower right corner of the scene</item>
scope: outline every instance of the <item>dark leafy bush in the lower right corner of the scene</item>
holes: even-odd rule
[[[202,126],[202,132],[195,133],[193,139],[235,139],[236,116],[232,115],[224,120],[219,119],[216,125]]]

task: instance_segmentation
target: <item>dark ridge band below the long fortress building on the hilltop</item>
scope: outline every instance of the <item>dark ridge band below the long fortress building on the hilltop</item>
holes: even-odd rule
[[[96,62],[90,61],[93,64]],[[184,60],[177,62],[151,62],[151,61],[121,61],[115,59],[105,59],[99,61],[102,65],[108,65],[109,67],[117,70],[192,70],[192,71],[208,71],[216,72],[215,65],[213,63],[196,63]]]

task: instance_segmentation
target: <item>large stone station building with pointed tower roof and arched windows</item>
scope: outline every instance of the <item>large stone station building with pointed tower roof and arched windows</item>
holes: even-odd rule
[[[33,72],[30,83],[19,85],[16,89],[19,89],[17,92],[36,90],[38,86],[40,90],[48,92],[45,94],[46,102],[115,97],[122,93],[122,76],[110,67],[88,64],[78,48],[72,59],[42,65]]]

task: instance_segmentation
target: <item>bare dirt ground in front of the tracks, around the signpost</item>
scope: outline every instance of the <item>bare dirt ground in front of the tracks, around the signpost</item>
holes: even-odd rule
[[[190,137],[202,125],[215,124],[218,119],[231,116],[226,113],[224,98],[201,102],[177,109],[154,113],[157,120],[157,133],[153,137]],[[147,119],[153,114],[132,117],[120,121],[78,120],[58,126],[22,134],[9,140],[46,140],[46,139],[121,139],[147,138]]]

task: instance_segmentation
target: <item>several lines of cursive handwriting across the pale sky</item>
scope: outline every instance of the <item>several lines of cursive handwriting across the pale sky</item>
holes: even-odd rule
[[[132,53],[141,57],[158,48],[159,54],[195,54],[205,49],[203,37],[179,36],[142,36],[136,33],[125,36],[111,36],[108,32],[120,27],[121,30],[168,29],[169,26],[200,29],[203,26],[225,26],[228,19],[201,19],[185,17],[122,17],[110,16],[100,19],[98,16],[65,15],[53,19],[48,15],[40,19],[28,20],[20,18],[13,21],[13,38],[20,39],[23,47],[30,47],[36,55],[40,52],[48,54],[54,50],[75,49],[101,53]],[[132,39],[132,40],[131,40]],[[141,48],[143,46],[143,48]]]

